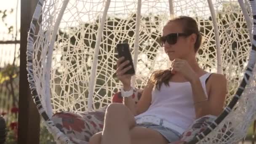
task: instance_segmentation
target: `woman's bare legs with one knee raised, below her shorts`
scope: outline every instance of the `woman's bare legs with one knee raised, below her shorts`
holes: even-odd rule
[[[135,126],[133,120],[134,116],[125,105],[109,105],[103,131],[94,134],[89,144],[168,144],[158,131]]]

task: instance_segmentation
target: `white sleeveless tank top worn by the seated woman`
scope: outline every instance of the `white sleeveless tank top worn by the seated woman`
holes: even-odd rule
[[[205,80],[210,75],[211,73],[206,73],[200,77],[207,98],[208,94],[205,87]],[[180,128],[187,129],[195,120],[195,107],[191,84],[189,82],[169,82],[169,86],[162,84],[160,91],[153,89],[149,109],[135,116],[135,120],[145,115],[154,115]]]

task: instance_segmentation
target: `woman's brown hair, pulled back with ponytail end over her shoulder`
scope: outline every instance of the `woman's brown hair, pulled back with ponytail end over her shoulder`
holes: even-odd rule
[[[179,16],[174,19],[168,20],[167,24],[169,22],[179,22],[179,24],[182,27],[182,30],[184,33],[187,34],[196,34],[197,39],[194,45],[195,53],[197,53],[198,49],[200,48],[200,45],[202,43],[202,36],[198,30],[197,22],[195,19],[189,17],[189,16]],[[149,82],[157,88],[158,91],[161,89],[161,85],[164,83],[165,85],[169,86],[169,81],[171,79],[173,74],[171,74],[170,69],[165,70],[157,70],[152,73],[152,75],[149,77]]]

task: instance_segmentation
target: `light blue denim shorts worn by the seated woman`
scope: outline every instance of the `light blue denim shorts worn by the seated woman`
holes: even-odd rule
[[[171,128],[166,128],[162,125],[155,125],[155,124],[146,122],[146,123],[136,124],[136,126],[150,128],[152,130],[158,131],[169,142],[178,141],[181,138],[181,134],[179,132],[174,131]]]

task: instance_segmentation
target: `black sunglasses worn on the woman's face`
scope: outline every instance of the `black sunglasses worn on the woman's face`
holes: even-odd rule
[[[174,45],[175,43],[177,43],[178,37],[180,37],[180,36],[187,37],[189,35],[191,35],[191,34],[187,34],[187,33],[171,33],[171,34],[168,34],[166,36],[159,37],[158,41],[159,41],[159,43],[160,43],[160,45],[162,47],[165,45],[166,41],[170,45]]]

